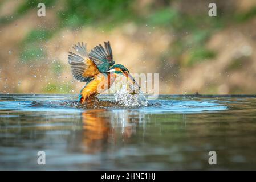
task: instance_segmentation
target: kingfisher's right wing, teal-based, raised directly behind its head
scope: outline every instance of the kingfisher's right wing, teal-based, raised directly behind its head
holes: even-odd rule
[[[99,44],[99,46],[94,47],[89,53],[90,59],[94,61],[101,73],[108,71],[109,67],[115,64],[109,41],[104,42],[104,46],[105,48]]]

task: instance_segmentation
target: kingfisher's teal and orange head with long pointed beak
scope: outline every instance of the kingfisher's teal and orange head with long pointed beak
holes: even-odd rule
[[[135,79],[131,76],[129,70],[121,64],[113,65],[107,72],[114,73],[115,76],[125,76],[128,81],[133,84],[133,86],[137,86],[137,88],[141,89],[139,84],[135,81]]]

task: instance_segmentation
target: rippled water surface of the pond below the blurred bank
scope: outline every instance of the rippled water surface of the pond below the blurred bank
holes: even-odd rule
[[[76,100],[0,95],[0,169],[256,169],[254,96],[148,97],[147,107]]]

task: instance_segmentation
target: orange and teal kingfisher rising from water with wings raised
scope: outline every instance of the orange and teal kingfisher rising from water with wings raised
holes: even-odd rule
[[[72,75],[76,80],[86,82],[79,93],[78,102],[81,104],[97,100],[95,96],[109,89],[118,76],[126,77],[131,84],[139,87],[124,65],[115,64],[109,41],[104,42],[104,47],[101,44],[95,46],[89,54],[83,42],[75,44],[73,49],[75,53],[68,52]]]

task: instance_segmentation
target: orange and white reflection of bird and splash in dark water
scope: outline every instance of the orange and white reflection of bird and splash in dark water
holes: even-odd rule
[[[86,152],[104,150],[109,143],[126,142],[136,132],[136,126],[143,120],[137,111],[113,113],[106,109],[88,110],[82,113],[82,143]]]

